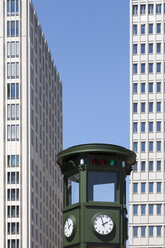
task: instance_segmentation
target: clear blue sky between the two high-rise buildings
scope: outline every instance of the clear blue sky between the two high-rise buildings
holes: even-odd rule
[[[64,149],[129,148],[129,1],[33,4],[63,82]]]

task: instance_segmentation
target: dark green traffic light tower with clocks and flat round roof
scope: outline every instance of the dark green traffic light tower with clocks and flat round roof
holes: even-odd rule
[[[78,145],[58,154],[64,248],[126,247],[126,176],[135,162],[134,152],[108,144]]]

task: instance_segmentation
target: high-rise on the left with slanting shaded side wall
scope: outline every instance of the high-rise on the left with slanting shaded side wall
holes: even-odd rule
[[[62,247],[62,84],[31,0],[0,0],[0,247]]]

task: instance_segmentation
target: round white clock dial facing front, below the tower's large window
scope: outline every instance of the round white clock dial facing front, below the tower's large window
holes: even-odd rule
[[[114,226],[112,219],[106,214],[97,215],[93,225],[95,231],[101,235],[107,235],[112,232]]]

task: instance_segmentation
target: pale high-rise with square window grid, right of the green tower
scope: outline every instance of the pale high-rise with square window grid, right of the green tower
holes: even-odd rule
[[[165,247],[165,1],[130,0],[129,247]]]

